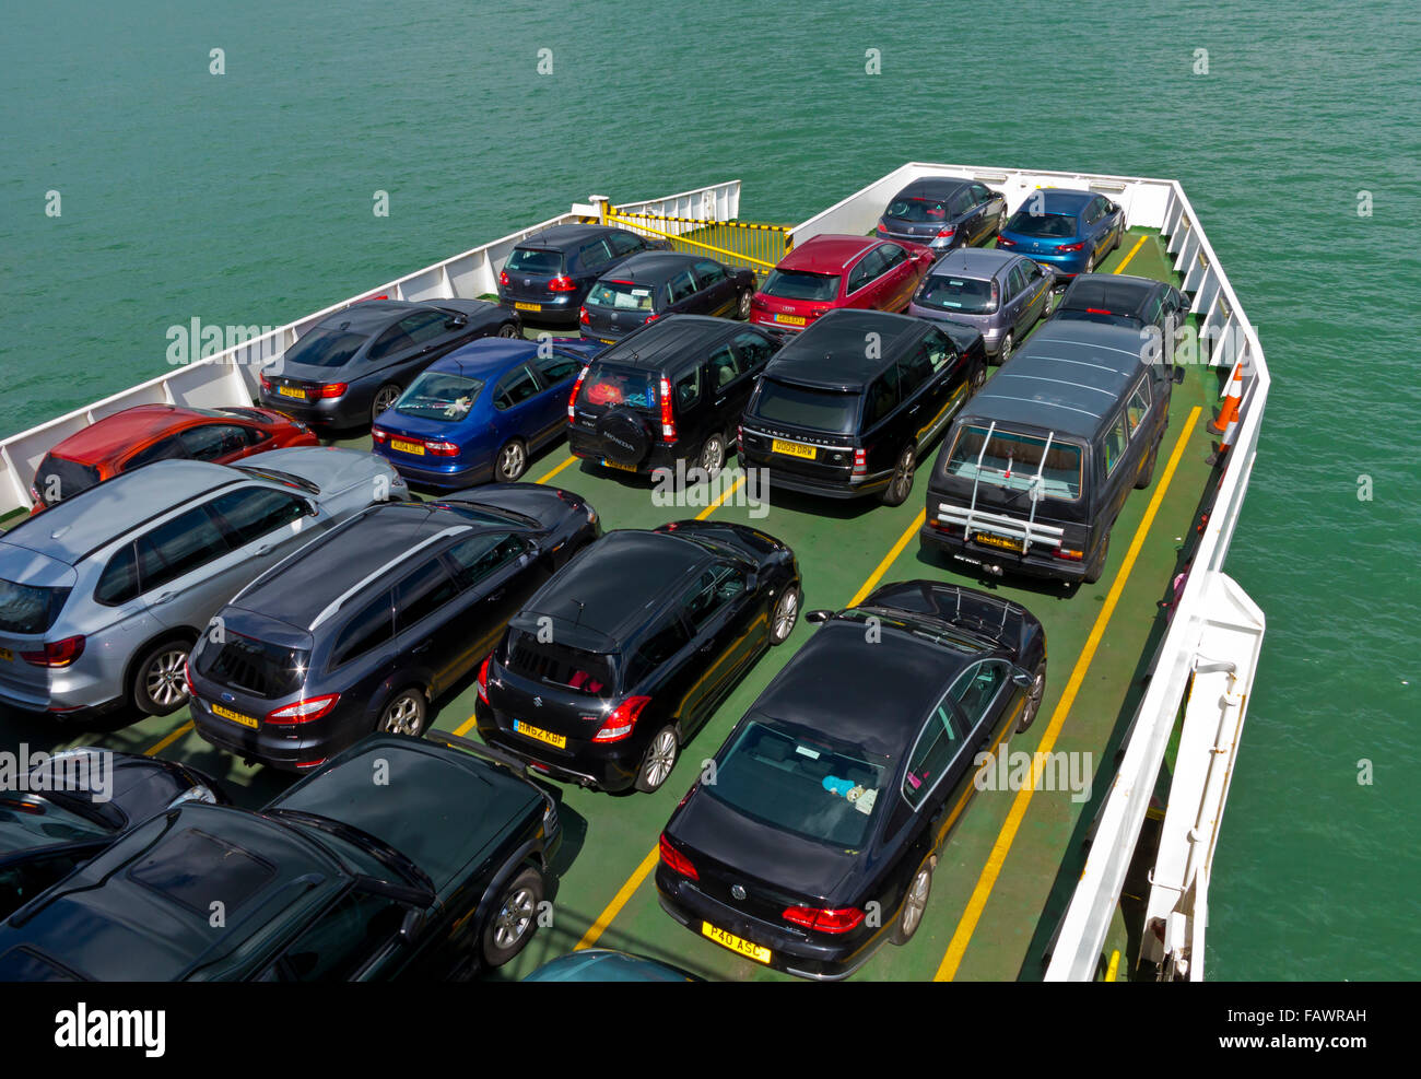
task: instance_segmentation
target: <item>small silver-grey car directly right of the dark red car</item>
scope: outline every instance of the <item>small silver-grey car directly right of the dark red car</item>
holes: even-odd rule
[[[1056,272],[1025,254],[963,247],[928,270],[908,304],[917,318],[951,318],[982,334],[988,358],[1005,364],[1056,303]]]

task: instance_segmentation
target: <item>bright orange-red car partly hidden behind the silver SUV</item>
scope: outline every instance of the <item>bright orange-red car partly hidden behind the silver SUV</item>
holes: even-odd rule
[[[31,513],[153,461],[226,465],[267,449],[318,445],[311,428],[270,408],[135,405],[90,424],[44,455],[30,485]]]

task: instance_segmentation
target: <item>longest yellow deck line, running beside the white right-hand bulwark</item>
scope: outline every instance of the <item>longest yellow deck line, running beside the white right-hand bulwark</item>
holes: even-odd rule
[[[1086,647],[1081,648],[1080,657],[1076,660],[1076,667],[1070,672],[1066,689],[1061,692],[1061,698],[1056,702],[1056,709],[1052,712],[1052,721],[1047,724],[1046,731],[1042,735],[1042,742],[1032,756],[1032,773],[1026,786],[1017,790],[1016,798],[1012,799],[1012,809],[1006,815],[1002,830],[996,836],[996,843],[992,844],[992,853],[988,856],[986,864],[982,867],[976,887],[972,889],[972,896],[968,900],[966,908],[962,911],[962,918],[958,921],[958,928],[953,931],[952,940],[948,943],[948,951],[942,957],[942,962],[938,967],[934,981],[952,981],[952,978],[956,977],[958,967],[962,965],[962,957],[968,950],[972,934],[976,931],[978,921],[982,917],[982,911],[986,908],[986,901],[990,897],[992,889],[996,886],[996,879],[1002,871],[1003,863],[1006,861],[1006,854],[1010,852],[1012,843],[1016,840],[1016,830],[1022,826],[1022,819],[1026,816],[1026,807],[1032,800],[1036,783],[1040,780],[1042,772],[1046,766],[1044,753],[1052,751],[1052,746],[1056,745],[1056,736],[1060,734],[1061,726],[1066,725],[1066,715],[1076,702],[1076,694],[1080,691],[1081,682],[1086,681],[1086,671],[1090,668],[1090,662],[1096,657],[1096,648],[1100,647],[1100,641],[1106,635],[1106,627],[1110,624],[1110,617],[1115,611],[1115,604],[1120,601],[1120,596],[1125,590],[1125,581],[1128,581],[1130,571],[1135,566],[1135,559],[1140,556],[1141,547],[1144,547],[1145,536],[1154,525],[1155,513],[1164,503],[1165,492],[1169,489],[1169,482],[1174,479],[1174,472],[1179,465],[1179,459],[1184,456],[1184,451],[1189,442],[1189,435],[1194,434],[1194,425],[1198,422],[1201,411],[1202,408],[1199,405],[1195,405],[1191,409],[1189,418],[1185,421],[1184,429],[1179,432],[1179,438],[1174,444],[1174,451],[1169,453],[1169,463],[1165,465],[1164,475],[1160,476],[1160,486],[1155,488],[1154,498],[1150,499],[1150,506],[1145,509],[1145,515],[1141,517],[1140,526],[1135,529],[1134,539],[1130,542],[1130,550],[1125,552],[1125,560],[1121,563],[1120,571],[1115,574],[1115,580],[1110,586],[1110,594],[1106,596],[1106,604],[1101,607],[1100,614],[1096,616],[1096,624],[1090,627],[1090,637],[1086,638]]]

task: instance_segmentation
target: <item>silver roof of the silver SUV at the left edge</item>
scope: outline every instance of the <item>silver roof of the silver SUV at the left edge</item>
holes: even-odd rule
[[[77,563],[145,520],[250,478],[207,461],[155,461],[20,522],[0,542]]]

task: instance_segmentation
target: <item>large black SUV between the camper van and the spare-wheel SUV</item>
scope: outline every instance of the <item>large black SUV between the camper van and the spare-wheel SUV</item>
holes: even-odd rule
[[[769,469],[772,489],[898,506],[919,455],[985,378],[972,327],[830,311],[764,368],[740,422],[740,461]]]

